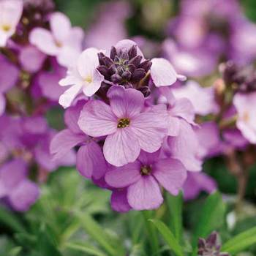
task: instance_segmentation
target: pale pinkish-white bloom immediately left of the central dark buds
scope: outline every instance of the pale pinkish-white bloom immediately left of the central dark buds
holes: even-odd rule
[[[78,57],[75,67],[70,68],[67,77],[60,80],[61,86],[72,86],[59,98],[59,104],[64,108],[69,107],[80,92],[90,97],[98,91],[104,77],[97,70],[97,53],[99,50],[95,48],[84,50]]]

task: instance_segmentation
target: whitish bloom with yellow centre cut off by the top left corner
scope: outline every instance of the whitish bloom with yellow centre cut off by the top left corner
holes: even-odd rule
[[[22,0],[0,1],[0,47],[5,47],[7,40],[15,33],[22,10]]]

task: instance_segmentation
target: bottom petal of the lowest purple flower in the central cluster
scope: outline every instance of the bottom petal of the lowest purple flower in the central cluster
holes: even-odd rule
[[[153,176],[140,178],[129,186],[127,198],[129,205],[137,211],[159,208],[163,202],[159,185]]]

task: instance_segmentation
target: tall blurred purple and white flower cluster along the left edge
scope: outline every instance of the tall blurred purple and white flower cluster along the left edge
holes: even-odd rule
[[[52,159],[56,129],[47,113],[64,92],[59,80],[82,50],[83,31],[54,12],[51,0],[0,1],[0,198],[26,211],[39,197],[38,183],[75,152]]]

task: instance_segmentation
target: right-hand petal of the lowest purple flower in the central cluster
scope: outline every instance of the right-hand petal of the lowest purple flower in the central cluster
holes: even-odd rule
[[[187,178],[187,171],[176,159],[161,159],[155,163],[153,175],[170,194],[178,195]]]

